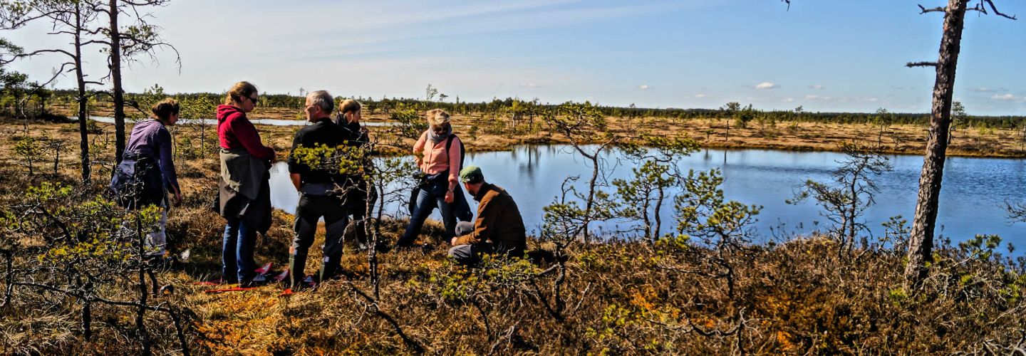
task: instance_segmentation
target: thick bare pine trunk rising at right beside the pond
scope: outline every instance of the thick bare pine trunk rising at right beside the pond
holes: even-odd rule
[[[937,81],[934,83],[930,113],[930,140],[926,142],[922,172],[919,175],[919,195],[915,203],[915,217],[912,220],[908,265],[905,267],[905,280],[910,285],[917,285],[926,277],[926,264],[933,261],[934,229],[948,148],[948,128],[951,125],[951,95],[968,2],[969,0],[948,0],[944,14],[944,36],[941,38],[940,56],[937,60]]]

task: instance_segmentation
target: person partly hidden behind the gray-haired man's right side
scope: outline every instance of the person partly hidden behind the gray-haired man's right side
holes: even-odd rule
[[[362,150],[369,150],[370,139],[368,137],[367,129],[360,125],[360,120],[363,118],[361,109],[360,102],[352,98],[343,101],[339,105],[339,115],[336,118],[336,123],[346,131],[346,145]],[[364,157],[368,154],[368,152],[363,152]],[[369,160],[364,162],[364,167],[369,165]],[[373,206],[377,200],[377,190],[362,174],[349,174],[348,180],[349,194],[346,196],[346,206],[349,214],[353,216],[353,224],[350,226],[353,229],[353,236],[356,238],[357,248],[364,250],[367,248],[367,234],[364,230],[366,226],[364,220],[367,213],[367,204],[369,203]]]

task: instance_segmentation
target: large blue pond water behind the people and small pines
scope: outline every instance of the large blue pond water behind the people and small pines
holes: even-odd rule
[[[627,177],[636,162],[619,153],[607,153],[608,164],[602,168],[606,179]],[[723,157],[721,160],[720,157]],[[762,205],[755,227],[763,235],[771,228],[791,232],[808,232],[826,224],[813,202],[789,205],[786,199],[806,180],[828,182],[843,155],[830,152],[785,152],[768,150],[703,150],[681,158],[680,167],[709,170],[719,168],[727,199],[745,204]],[[895,169],[876,182],[880,188],[877,204],[864,217],[874,235],[883,233],[880,226],[890,216],[903,215],[911,221],[918,187],[921,156],[892,157]],[[480,166],[485,180],[507,189],[524,217],[528,230],[537,230],[542,222],[542,207],[559,194],[560,184],[570,175],[582,181],[591,174],[587,160],[566,146],[519,146],[511,151],[468,153],[467,164]],[[1026,160],[951,157],[945,165],[944,187],[941,191],[937,234],[961,241],[975,234],[997,234],[1004,241],[1026,247],[1022,225],[1010,225],[1001,208],[1005,199],[1026,201]],[[584,184],[583,182],[581,183]],[[297,196],[282,163],[272,174],[273,203],[286,211],[295,208]],[[391,206],[389,212],[399,211]],[[664,207],[663,232],[672,229],[672,203]],[[438,219],[438,216],[435,216]],[[614,230],[615,224],[594,226]],[[623,228],[623,227],[619,227]],[[820,227],[823,228],[823,227]],[[1018,253],[1022,253],[1022,249]]]

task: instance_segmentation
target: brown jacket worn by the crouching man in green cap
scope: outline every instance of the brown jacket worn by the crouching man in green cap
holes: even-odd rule
[[[457,238],[457,245],[491,241],[497,250],[527,249],[526,230],[523,219],[513,197],[502,188],[484,183],[474,195],[477,204],[477,219],[474,232]]]

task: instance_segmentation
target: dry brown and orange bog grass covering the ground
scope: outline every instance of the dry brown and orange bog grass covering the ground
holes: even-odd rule
[[[688,133],[715,124],[703,126],[701,122],[658,124]],[[77,133],[69,126],[32,123],[30,132],[75,142]],[[825,149],[835,141],[864,136],[864,130],[870,129],[800,126],[794,136],[780,134],[772,140],[744,135],[755,129],[732,128],[732,134],[744,139],[725,143]],[[75,145],[65,154],[67,159],[62,159],[57,174],[28,176],[11,153],[9,140],[22,134],[22,129],[17,122],[0,124],[0,135],[7,137],[0,142],[0,201],[4,204],[15,201],[30,185],[74,184],[78,176]],[[272,137],[272,146],[283,158],[295,128],[261,129]],[[922,127],[894,129],[894,134],[913,137]],[[179,130],[177,140],[195,134],[188,126]],[[827,132],[829,139],[816,142],[798,139],[798,134],[818,137]],[[716,142],[716,134],[711,136],[708,145]],[[545,132],[516,139],[481,136],[468,140],[468,147],[491,148],[545,137]],[[987,152],[1013,152],[990,139],[981,137],[987,145],[996,145]],[[956,136],[956,148],[958,143]],[[211,157],[176,162],[186,202],[170,214],[169,239],[177,249],[190,248],[193,258],[183,268],[160,273],[162,283],[174,285],[176,291],[157,296],[158,303],[189,311],[194,353],[406,354],[420,348],[445,354],[938,354],[982,353],[986,348],[999,350],[1017,343],[1026,347],[1024,263],[984,259],[951,246],[938,250],[932,277],[918,291],[904,287],[903,258],[887,249],[840,255],[836,244],[818,238],[752,246],[731,262],[738,275],[737,292],[731,296],[722,279],[688,273],[706,268],[688,260],[689,255],[711,251],[699,247],[682,251],[643,242],[577,244],[568,251],[561,295],[566,307],[558,315],[550,311],[556,305],[556,276],[543,272],[551,262],[499,265],[501,272],[489,274],[452,266],[444,259],[443,248],[381,254],[377,300],[366,280],[366,256],[353,250],[347,251],[343,262],[348,277],[323,283],[316,290],[279,296],[282,286],[268,285],[241,293],[207,294],[202,291],[209,286],[194,282],[218,275],[224,226],[207,209],[215,186],[216,161]],[[104,181],[103,176],[97,173],[95,180]],[[98,182],[96,188],[103,185]],[[287,262],[291,216],[276,211],[274,219],[272,231],[259,243],[258,261],[281,266]],[[394,241],[401,228],[402,222],[389,222],[385,238]],[[437,225],[426,231],[426,241],[437,239]],[[530,245],[534,249],[550,247],[538,241]],[[319,261],[317,248],[311,252],[308,271],[317,268]],[[124,299],[131,299],[132,292],[119,286],[104,290],[106,295]],[[13,296],[12,306],[0,309],[0,353],[137,352],[133,314],[125,309],[94,307],[95,334],[86,342],[77,321],[81,306],[74,300],[26,288],[15,288]],[[723,334],[738,327],[740,318],[745,320],[743,327]],[[148,314],[147,324],[158,340],[155,352],[177,352],[173,327],[164,315]]]

